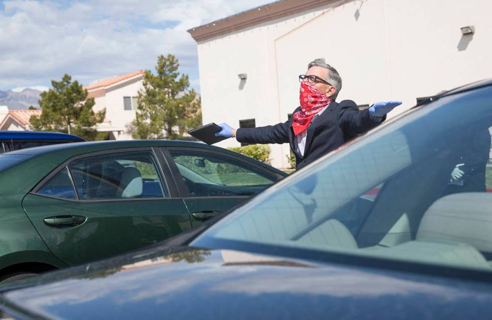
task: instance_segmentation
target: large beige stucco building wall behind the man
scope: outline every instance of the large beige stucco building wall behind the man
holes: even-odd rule
[[[287,120],[299,103],[297,76],[325,58],[343,79],[338,101],[371,104],[417,97],[492,75],[492,2],[343,1],[198,43],[203,122],[241,119],[257,126]],[[358,15],[357,15],[358,13]],[[475,34],[462,36],[460,27]],[[247,73],[240,88],[237,74]],[[228,139],[219,146],[237,146]],[[286,167],[289,146],[273,145]]]

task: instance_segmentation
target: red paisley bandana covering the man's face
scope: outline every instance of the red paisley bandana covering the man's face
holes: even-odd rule
[[[296,136],[306,130],[313,117],[332,100],[316,89],[313,84],[303,81],[301,82],[299,102],[301,103],[301,110],[294,114],[292,121],[292,129],[294,129]]]

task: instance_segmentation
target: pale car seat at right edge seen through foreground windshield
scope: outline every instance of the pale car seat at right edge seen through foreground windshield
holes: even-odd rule
[[[438,199],[425,212],[417,240],[464,242],[492,252],[492,194],[456,193]]]

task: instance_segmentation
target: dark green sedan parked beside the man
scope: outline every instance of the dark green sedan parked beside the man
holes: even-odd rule
[[[0,155],[0,281],[156,243],[284,176],[184,141],[81,142]]]

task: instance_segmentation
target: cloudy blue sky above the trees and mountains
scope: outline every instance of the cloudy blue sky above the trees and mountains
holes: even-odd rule
[[[50,87],[67,73],[88,85],[154,70],[173,54],[199,92],[196,43],[186,30],[271,0],[0,1],[0,90]]]

